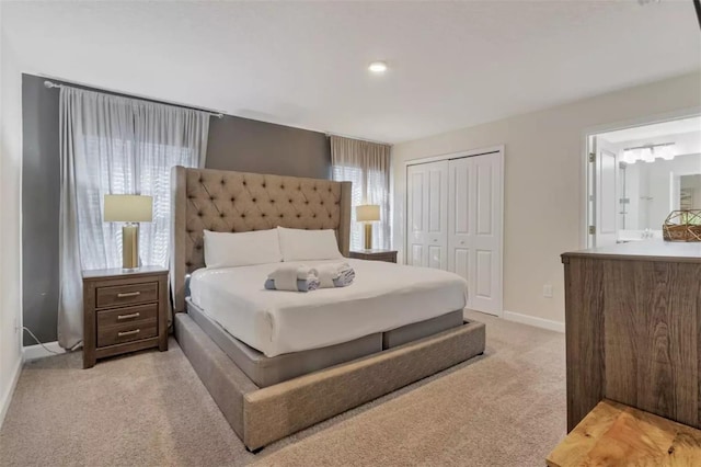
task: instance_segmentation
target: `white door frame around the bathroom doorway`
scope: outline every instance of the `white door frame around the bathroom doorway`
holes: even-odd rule
[[[579,175],[579,185],[582,193],[582,201],[579,204],[581,215],[579,215],[579,247],[583,249],[591,248],[593,238],[595,236],[589,234],[589,221],[590,219],[596,219],[596,212],[593,210],[593,204],[589,203],[589,196],[596,193],[596,170],[589,170],[589,153],[591,153],[596,148],[591,147],[591,139],[594,136],[597,136],[601,133],[617,132],[619,129],[629,129],[635,128],[639,126],[653,125],[656,123],[664,122],[673,122],[675,119],[683,119],[701,116],[701,106],[692,106],[687,109],[681,109],[678,111],[665,112],[654,115],[647,115],[636,118],[630,118],[619,122],[606,123],[600,125],[594,125],[586,127],[582,130],[581,137],[581,148],[582,148],[582,170]],[[591,179],[594,176],[594,179]],[[591,191],[589,192],[589,187],[591,186]],[[596,204],[596,203],[594,203]],[[594,208],[595,209],[595,208]]]

